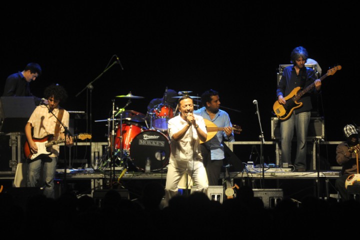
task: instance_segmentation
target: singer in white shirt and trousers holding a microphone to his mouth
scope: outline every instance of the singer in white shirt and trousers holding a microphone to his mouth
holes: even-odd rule
[[[188,95],[179,98],[178,109],[180,114],[168,121],[171,153],[166,175],[165,205],[177,194],[177,185],[185,173],[196,184],[196,190],[206,194],[208,188],[199,142],[207,137],[205,122],[202,116],[192,113],[193,102]]]

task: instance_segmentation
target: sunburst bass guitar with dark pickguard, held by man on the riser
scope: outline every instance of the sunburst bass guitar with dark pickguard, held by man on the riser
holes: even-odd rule
[[[341,66],[335,66],[329,70],[327,70],[326,74],[322,75],[319,79],[322,81],[326,76],[333,75],[337,70],[340,70]],[[301,98],[303,94],[308,92],[312,87],[315,86],[315,82],[312,82],[309,86],[307,86],[302,91],[298,92],[301,87],[295,87],[287,96],[285,96],[285,104],[279,103],[277,100],[272,106],[273,113],[280,119],[286,120],[291,116],[291,113],[294,109],[302,106],[302,102],[297,102]]]

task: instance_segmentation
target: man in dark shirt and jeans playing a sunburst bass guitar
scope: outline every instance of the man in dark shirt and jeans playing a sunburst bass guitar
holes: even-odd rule
[[[292,66],[283,69],[282,77],[276,90],[278,103],[285,105],[286,101],[292,97],[291,92],[295,87],[306,88],[314,83],[312,92],[305,93],[298,102],[302,105],[288,113],[280,122],[281,133],[281,162],[291,164],[291,140],[296,130],[297,147],[294,161],[295,171],[306,170],[306,136],[310,121],[311,93],[318,93],[321,87],[321,80],[316,79],[315,71],[305,67],[308,58],[307,50],[298,46],[295,47],[290,55]]]

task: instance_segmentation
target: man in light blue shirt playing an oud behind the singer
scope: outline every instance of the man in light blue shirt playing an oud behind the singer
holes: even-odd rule
[[[217,127],[223,127],[223,130],[217,131],[211,139],[209,139],[211,134],[208,132],[207,141],[201,144],[201,154],[209,186],[219,185],[221,167],[225,158],[223,141],[235,140],[232,124],[227,112],[219,109],[220,100],[217,91],[212,89],[206,90],[201,95],[201,103],[203,107],[194,110],[193,113],[202,116],[205,124],[206,120],[208,120]]]

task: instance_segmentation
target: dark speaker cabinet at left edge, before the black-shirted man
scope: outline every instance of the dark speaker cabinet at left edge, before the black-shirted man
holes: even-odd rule
[[[35,107],[32,96],[1,96],[0,132],[23,132]]]

